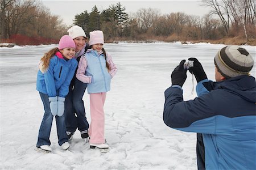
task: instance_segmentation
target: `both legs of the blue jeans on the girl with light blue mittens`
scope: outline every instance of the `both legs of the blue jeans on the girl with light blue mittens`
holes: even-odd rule
[[[48,95],[41,92],[39,92],[39,94],[44,105],[44,116],[39,129],[38,142],[36,143],[36,147],[40,147],[42,145],[51,145],[51,142],[49,141],[49,136],[51,133],[53,120],[51,109],[49,107]],[[57,125],[57,135],[59,139],[58,143],[61,146],[64,142],[68,141],[66,134],[65,118],[64,116],[55,116],[55,120]]]

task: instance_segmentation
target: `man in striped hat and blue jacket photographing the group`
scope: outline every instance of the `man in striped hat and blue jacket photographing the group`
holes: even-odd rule
[[[164,123],[203,134],[206,169],[256,169],[256,83],[249,75],[253,57],[239,46],[219,50],[214,57],[216,82],[207,79],[196,58],[189,60],[194,61],[189,71],[197,79],[199,97],[183,101],[183,60],[164,92]]]

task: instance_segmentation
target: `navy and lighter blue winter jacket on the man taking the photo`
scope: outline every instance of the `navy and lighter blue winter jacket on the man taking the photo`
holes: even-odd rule
[[[171,128],[203,133],[206,169],[256,169],[256,83],[253,76],[203,80],[194,100],[180,88],[165,92],[163,119]]]

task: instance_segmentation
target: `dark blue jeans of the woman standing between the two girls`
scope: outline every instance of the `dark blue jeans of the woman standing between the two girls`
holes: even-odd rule
[[[74,133],[76,129],[79,129],[79,131],[89,129],[89,124],[85,116],[84,101],[82,100],[86,87],[87,84],[80,82],[77,78],[69,86],[69,93],[65,100],[64,114],[67,131],[71,131],[71,133]]]

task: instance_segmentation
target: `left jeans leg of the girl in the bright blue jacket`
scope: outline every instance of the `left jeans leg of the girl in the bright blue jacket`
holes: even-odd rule
[[[42,94],[41,92],[39,92],[39,94],[44,105],[44,117],[39,129],[38,142],[36,143],[36,147],[40,147],[42,145],[51,145],[51,142],[49,141],[49,136],[51,133],[53,120],[51,109],[49,107],[48,95]]]

